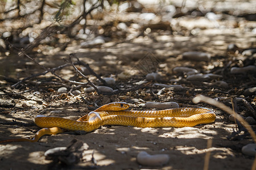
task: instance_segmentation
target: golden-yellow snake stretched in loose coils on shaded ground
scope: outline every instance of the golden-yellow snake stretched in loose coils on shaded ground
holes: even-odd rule
[[[215,121],[216,115],[208,108],[171,108],[158,111],[133,111],[127,110],[129,104],[114,102],[82,116],[78,120],[62,117],[38,115],[35,124],[40,129],[32,139],[17,138],[7,139],[4,142],[38,142],[43,135],[62,133],[65,130],[82,130],[90,133],[103,125],[134,126],[138,128],[183,128],[200,124],[210,124]]]

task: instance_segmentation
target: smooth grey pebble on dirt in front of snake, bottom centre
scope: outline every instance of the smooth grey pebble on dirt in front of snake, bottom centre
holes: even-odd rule
[[[160,166],[167,164],[170,157],[167,154],[150,155],[145,151],[139,152],[137,162],[141,165]]]

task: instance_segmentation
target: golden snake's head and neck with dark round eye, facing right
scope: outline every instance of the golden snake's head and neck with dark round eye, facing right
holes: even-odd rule
[[[102,111],[123,111],[130,107],[129,104],[124,102],[114,102],[102,105],[102,107],[96,109],[94,112],[102,112]]]

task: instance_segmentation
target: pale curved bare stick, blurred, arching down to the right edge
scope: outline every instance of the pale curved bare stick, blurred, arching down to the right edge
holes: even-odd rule
[[[193,101],[193,103],[199,103],[200,101],[202,101],[204,103],[214,105],[215,107],[218,107],[229,114],[233,114],[234,118],[236,118],[238,121],[240,121],[241,124],[248,130],[248,132],[250,133],[254,142],[256,143],[256,135],[255,135],[253,129],[251,129],[251,126],[245,120],[243,120],[243,118],[239,114],[237,114],[236,112],[233,112],[232,109],[227,107],[225,104],[222,104],[216,100],[211,99],[210,97],[205,97],[203,95],[197,95],[196,97],[193,98],[192,101]]]

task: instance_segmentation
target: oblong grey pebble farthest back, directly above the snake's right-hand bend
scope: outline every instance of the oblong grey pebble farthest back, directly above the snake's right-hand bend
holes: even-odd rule
[[[195,60],[195,61],[210,61],[210,54],[203,52],[184,52],[182,54],[183,59]]]

